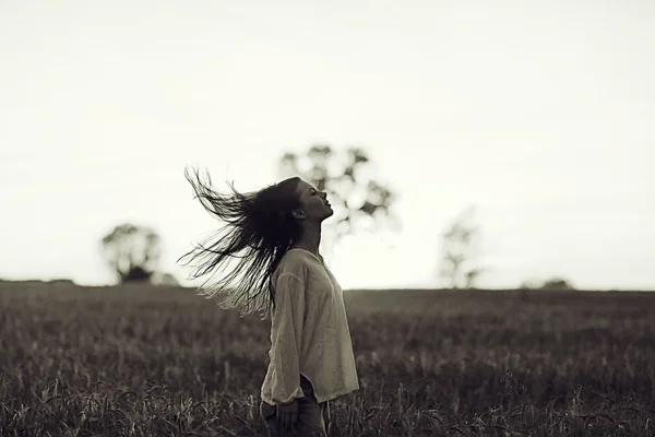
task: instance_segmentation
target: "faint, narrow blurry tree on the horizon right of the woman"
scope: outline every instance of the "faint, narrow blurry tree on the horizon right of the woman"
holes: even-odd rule
[[[484,269],[475,265],[479,243],[479,226],[473,223],[474,209],[464,210],[442,233],[440,275],[458,288],[462,282],[466,288],[475,286]]]

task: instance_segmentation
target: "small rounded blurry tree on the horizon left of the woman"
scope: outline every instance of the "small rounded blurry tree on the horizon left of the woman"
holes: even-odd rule
[[[155,231],[124,223],[103,237],[102,243],[107,264],[121,283],[151,282],[162,249]]]

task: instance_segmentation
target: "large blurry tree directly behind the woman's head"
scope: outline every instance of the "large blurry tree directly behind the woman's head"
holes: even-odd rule
[[[333,234],[332,244],[336,245],[367,221],[371,231],[382,223],[400,226],[397,217],[390,212],[396,196],[384,182],[366,176],[369,163],[367,152],[360,147],[337,153],[329,145],[312,145],[303,154],[283,154],[279,174],[282,177],[298,175],[327,193],[335,220],[325,226]]]

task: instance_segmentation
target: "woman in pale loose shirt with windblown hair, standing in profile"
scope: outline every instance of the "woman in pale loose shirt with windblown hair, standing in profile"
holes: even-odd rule
[[[343,291],[319,253],[321,224],[334,214],[325,192],[293,177],[255,192],[222,196],[186,172],[195,196],[226,222],[182,258],[193,277],[236,268],[200,293],[222,308],[271,317],[260,414],[270,436],[326,436],[329,401],[359,389]],[[206,282],[205,284],[206,285]]]

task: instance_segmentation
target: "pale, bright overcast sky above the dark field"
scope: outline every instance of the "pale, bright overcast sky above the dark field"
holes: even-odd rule
[[[655,3],[0,2],[0,277],[115,281],[99,240],[152,226],[162,269],[219,189],[285,151],[361,146],[398,232],[341,241],[344,288],[431,287],[467,205],[479,285],[655,290]]]

